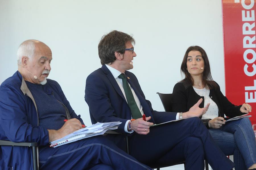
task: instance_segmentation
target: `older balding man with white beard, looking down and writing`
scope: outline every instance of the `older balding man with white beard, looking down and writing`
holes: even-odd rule
[[[151,169],[103,136],[50,148],[49,142],[81,129],[83,121],[59,84],[46,79],[51,49],[27,40],[17,55],[18,71],[0,86],[1,140],[37,142],[40,169]],[[27,147],[1,146],[0,158],[0,169],[33,169]]]

